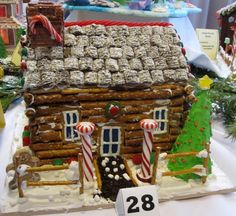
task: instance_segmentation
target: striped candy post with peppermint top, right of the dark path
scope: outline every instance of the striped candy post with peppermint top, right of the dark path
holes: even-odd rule
[[[150,157],[153,146],[153,131],[158,128],[158,123],[153,119],[144,119],[140,122],[140,127],[144,130],[143,153],[141,170],[137,174],[139,180],[149,182],[151,180]]]

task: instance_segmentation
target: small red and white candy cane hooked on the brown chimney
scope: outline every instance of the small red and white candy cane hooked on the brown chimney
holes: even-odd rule
[[[38,22],[42,23],[43,27],[49,31],[51,37],[53,37],[54,40],[56,40],[59,43],[62,42],[61,35],[56,32],[55,28],[52,26],[52,23],[49,21],[49,19],[42,14],[35,15],[30,18],[29,28],[33,34],[36,34],[35,24]]]

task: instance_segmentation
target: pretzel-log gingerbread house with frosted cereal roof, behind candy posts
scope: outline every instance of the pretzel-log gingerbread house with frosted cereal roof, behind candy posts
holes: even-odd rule
[[[28,11],[35,7],[30,4]],[[35,26],[45,28],[40,22]],[[171,25],[91,21],[56,28],[62,29],[61,44],[50,42],[56,37],[51,28],[36,32],[43,40],[31,41],[25,72],[30,148],[41,162],[77,157],[79,121],[96,125],[94,154],[141,153],[139,122],[146,118],[159,123],[154,145],[169,150],[192,91],[182,43]]]

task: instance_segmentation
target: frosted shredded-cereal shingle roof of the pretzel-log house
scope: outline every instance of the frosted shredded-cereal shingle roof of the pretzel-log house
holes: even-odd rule
[[[172,27],[66,27],[64,47],[29,49],[25,88],[185,82],[188,67],[179,42]]]

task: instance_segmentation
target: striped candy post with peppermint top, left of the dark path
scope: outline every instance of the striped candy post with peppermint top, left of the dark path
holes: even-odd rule
[[[91,122],[79,122],[76,129],[82,141],[84,177],[88,182],[91,182],[93,181],[93,155],[90,135],[93,133],[95,125]]]

